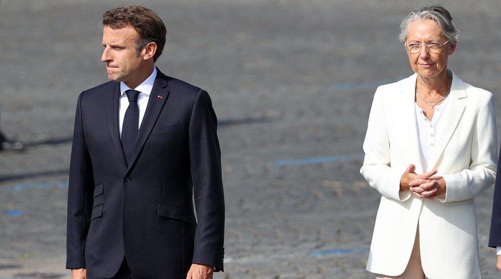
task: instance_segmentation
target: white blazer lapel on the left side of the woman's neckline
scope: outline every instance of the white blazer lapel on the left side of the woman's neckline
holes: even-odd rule
[[[417,74],[414,74],[403,81],[404,84],[401,89],[403,100],[399,101],[396,106],[399,106],[401,109],[401,112],[398,113],[398,115],[401,116],[401,125],[399,127],[401,130],[400,135],[404,137],[402,140],[406,141],[409,147],[404,151],[408,154],[410,163],[416,166],[416,173],[423,173],[421,149],[419,147],[416,123],[416,79]]]

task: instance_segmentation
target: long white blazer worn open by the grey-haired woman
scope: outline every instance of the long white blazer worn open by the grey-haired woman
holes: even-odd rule
[[[452,73],[437,142],[423,170],[414,92],[417,74],[378,87],[364,141],[360,172],[381,193],[367,270],[397,276],[410,258],[419,222],[421,261],[430,279],[481,278],[473,197],[494,183],[497,135],[490,92]],[[409,164],[416,173],[442,176],[444,198],[427,200],[399,192]]]

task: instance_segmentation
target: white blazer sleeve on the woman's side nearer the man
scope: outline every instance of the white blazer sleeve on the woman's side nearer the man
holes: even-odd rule
[[[390,164],[390,140],[386,128],[381,87],[374,94],[367,134],[364,140],[364,165],[360,173],[365,177],[371,187],[382,195],[404,201],[410,198],[410,191],[400,192],[400,178],[404,170],[396,170]]]

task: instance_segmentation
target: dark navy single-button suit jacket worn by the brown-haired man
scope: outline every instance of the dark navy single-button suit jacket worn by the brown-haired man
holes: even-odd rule
[[[110,278],[125,256],[138,278],[185,278],[192,263],[222,270],[224,196],[207,92],[158,71],[130,166],[119,98],[118,82],[78,98],[66,267]]]

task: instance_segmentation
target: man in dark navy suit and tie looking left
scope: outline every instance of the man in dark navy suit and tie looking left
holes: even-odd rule
[[[224,196],[210,98],[155,68],[166,32],[153,11],[114,9],[103,24],[111,82],[78,98],[66,267],[72,278],[212,278]]]

